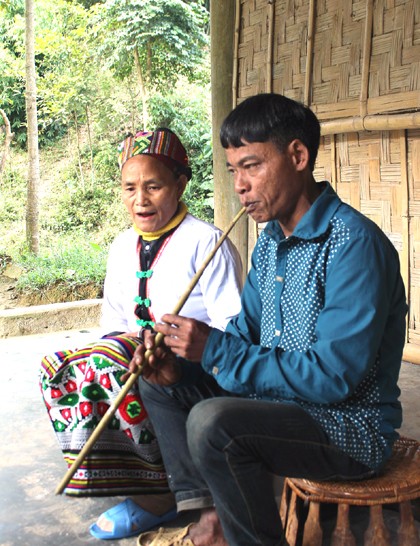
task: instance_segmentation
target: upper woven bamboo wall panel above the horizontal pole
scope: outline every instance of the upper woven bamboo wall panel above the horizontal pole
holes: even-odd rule
[[[272,82],[267,82],[273,2]],[[419,0],[317,0],[310,75],[313,2],[241,0],[240,6],[239,101],[268,89],[303,101],[310,83],[305,102],[320,120],[419,108]]]

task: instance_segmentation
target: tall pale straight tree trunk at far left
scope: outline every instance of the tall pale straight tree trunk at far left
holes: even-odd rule
[[[28,189],[26,203],[26,241],[34,254],[39,251],[39,151],[36,107],[34,0],[25,0],[26,118],[28,136]]]

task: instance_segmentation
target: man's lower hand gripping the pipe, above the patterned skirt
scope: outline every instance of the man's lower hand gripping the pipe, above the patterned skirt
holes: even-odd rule
[[[175,355],[164,343],[155,346],[156,334],[146,330],[144,343],[138,345],[129,364],[129,371],[122,376],[122,381],[127,381],[130,374],[135,373],[139,366],[142,367],[142,375],[150,383],[168,386],[177,383],[181,379],[181,366]],[[153,351],[146,358],[146,351]]]

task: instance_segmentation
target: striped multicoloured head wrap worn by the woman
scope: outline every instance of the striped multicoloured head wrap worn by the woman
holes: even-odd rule
[[[159,128],[156,131],[139,131],[134,136],[128,135],[118,146],[118,165],[122,169],[131,157],[147,154],[164,163],[176,176],[185,174],[191,178],[187,152],[179,138],[170,129]]]

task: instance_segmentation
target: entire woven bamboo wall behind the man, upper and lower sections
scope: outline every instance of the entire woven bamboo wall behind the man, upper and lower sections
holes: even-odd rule
[[[317,114],[315,177],[397,248],[404,357],[420,364],[420,0],[237,0],[236,9],[236,100],[274,91]]]

